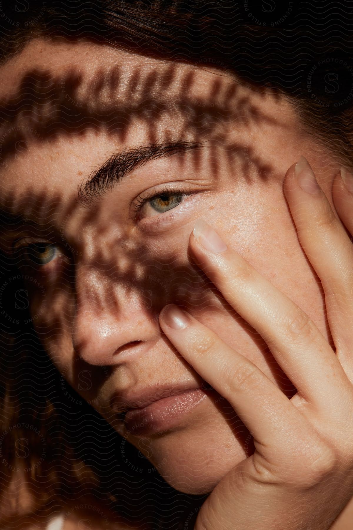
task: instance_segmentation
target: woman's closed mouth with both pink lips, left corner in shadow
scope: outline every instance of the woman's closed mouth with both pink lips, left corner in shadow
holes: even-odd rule
[[[209,388],[200,386],[158,386],[125,398],[115,396],[111,406],[124,420],[128,434],[146,436],[177,427],[209,393]]]

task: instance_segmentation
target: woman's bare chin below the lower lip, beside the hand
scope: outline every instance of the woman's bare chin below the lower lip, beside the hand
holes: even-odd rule
[[[128,441],[176,490],[210,493],[234,466],[254,452],[248,429],[227,401],[207,399],[168,431]]]

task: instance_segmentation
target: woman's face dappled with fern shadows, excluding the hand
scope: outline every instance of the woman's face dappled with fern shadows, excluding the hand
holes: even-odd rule
[[[37,40],[2,66],[1,79],[1,204],[23,216],[5,227],[1,247],[22,246],[19,272],[62,392],[74,400],[67,382],[73,386],[175,488],[211,491],[251,454],[251,436],[161,332],[158,314],[168,303],[185,307],[288,397],[295,393],[265,341],[193,262],[188,239],[196,220],[207,220],[332,345],[323,290],[282,182],[304,155],[334,210],[339,161],[283,96],[221,70]],[[201,144],[185,149],[185,142]],[[87,191],[103,164],[120,183],[80,200],[80,185]],[[24,244],[34,251],[25,253]],[[124,424],[123,404],[170,388],[203,392],[186,394],[185,410],[171,399],[160,402],[161,413],[146,409]]]

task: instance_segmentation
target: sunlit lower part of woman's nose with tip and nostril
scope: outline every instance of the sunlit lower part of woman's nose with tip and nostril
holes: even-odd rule
[[[116,365],[151,348],[160,337],[151,291],[103,279],[94,269],[76,277],[73,346],[91,365]]]

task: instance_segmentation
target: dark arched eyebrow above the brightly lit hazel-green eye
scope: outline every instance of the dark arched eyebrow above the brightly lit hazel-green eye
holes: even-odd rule
[[[84,205],[98,199],[107,190],[112,190],[116,184],[119,185],[124,176],[150,160],[196,150],[204,143],[205,140],[202,142],[185,142],[183,140],[168,142],[166,140],[115,153],[103,165],[94,170],[85,184],[82,183],[79,186],[78,202],[80,205]]]

